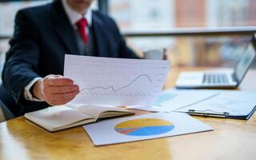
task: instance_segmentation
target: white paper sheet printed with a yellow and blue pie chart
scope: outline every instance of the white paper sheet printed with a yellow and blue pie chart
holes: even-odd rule
[[[188,114],[175,112],[116,118],[83,127],[95,146],[213,130]]]

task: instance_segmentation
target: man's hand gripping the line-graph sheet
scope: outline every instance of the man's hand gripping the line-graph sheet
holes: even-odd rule
[[[78,85],[61,75],[48,75],[36,82],[33,87],[34,97],[52,106],[70,102],[78,93]]]

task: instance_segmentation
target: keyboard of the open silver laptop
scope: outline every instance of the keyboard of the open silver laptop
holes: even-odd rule
[[[211,83],[211,84],[226,84],[229,83],[229,80],[227,78],[226,74],[204,74],[202,83]]]

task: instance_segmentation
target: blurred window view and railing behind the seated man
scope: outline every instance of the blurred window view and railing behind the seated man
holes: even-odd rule
[[[0,70],[17,11],[47,2],[0,1]],[[234,66],[256,30],[255,0],[94,0],[93,8],[114,18],[139,55],[166,48],[172,66]]]

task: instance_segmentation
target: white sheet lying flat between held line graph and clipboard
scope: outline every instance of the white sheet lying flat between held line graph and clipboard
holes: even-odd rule
[[[170,112],[190,106],[218,94],[218,90],[164,90],[151,106],[139,107],[140,110]]]

